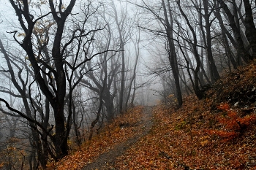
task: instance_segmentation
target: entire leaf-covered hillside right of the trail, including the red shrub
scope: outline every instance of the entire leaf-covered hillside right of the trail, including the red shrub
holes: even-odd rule
[[[116,169],[256,169],[256,65],[228,74],[205,98],[154,109],[154,127]]]

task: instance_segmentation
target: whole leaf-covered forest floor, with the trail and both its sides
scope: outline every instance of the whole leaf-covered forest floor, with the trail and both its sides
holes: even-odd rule
[[[256,169],[256,63],[218,80],[203,99],[135,107],[58,169]],[[175,101],[173,95],[169,96]]]

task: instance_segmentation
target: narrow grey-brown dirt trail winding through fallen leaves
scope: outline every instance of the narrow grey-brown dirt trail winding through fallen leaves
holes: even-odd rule
[[[128,139],[126,142],[116,145],[112,150],[99,155],[99,157],[93,162],[83,167],[81,170],[95,170],[95,169],[114,169],[113,166],[115,164],[116,158],[123,155],[124,152],[132,146],[135,142],[137,142],[140,138],[148,134],[150,131],[153,121],[152,121],[152,109],[153,107],[145,107],[143,112],[143,132],[133,136],[131,139]]]

